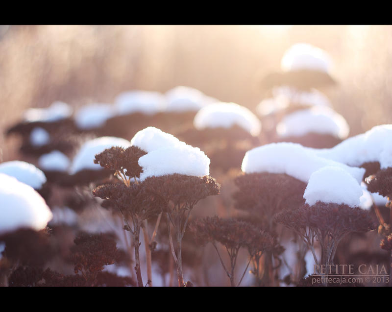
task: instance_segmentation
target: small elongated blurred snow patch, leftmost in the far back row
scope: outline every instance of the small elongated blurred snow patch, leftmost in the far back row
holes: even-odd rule
[[[73,108],[67,103],[56,101],[47,108],[29,108],[24,113],[24,120],[28,122],[52,122],[71,117]]]

